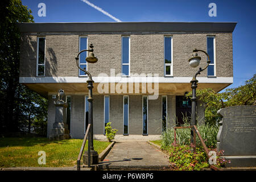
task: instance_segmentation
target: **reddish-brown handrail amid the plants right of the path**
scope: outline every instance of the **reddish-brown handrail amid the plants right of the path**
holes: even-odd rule
[[[188,129],[188,128],[193,128],[193,132],[194,132],[194,135],[193,135],[193,151],[194,153],[196,152],[196,135],[195,133],[197,134],[197,136],[199,137],[200,139],[200,142],[204,148],[204,151],[205,153],[207,154],[207,158],[209,160],[210,156],[209,156],[209,149],[207,148],[206,144],[204,143],[204,140],[203,138],[201,137],[199,131],[197,130],[197,127],[195,125],[193,126],[179,126],[179,127],[174,127],[174,142],[176,143],[176,129]],[[210,165],[210,169],[213,169],[213,170],[216,170],[216,171],[219,171],[220,169],[217,168],[216,166],[213,166],[213,165]]]

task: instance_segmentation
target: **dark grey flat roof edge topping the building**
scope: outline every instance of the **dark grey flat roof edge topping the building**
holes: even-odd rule
[[[237,22],[17,23],[20,32],[233,32]]]

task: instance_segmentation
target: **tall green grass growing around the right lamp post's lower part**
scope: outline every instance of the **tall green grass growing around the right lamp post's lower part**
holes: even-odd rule
[[[183,118],[184,124],[181,126],[190,126],[189,118]],[[203,138],[205,144],[208,148],[216,148],[217,144],[217,134],[218,134],[218,125],[209,125],[208,123],[197,125],[197,129],[201,137]],[[166,131],[163,131],[162,135],[161,147],[166,150],[171,143],[174,142],[174,128],[167,127]],[[179,144],[190,144],[191,139],[191,129],[176,129],[176,142]],[[199,138],[196,136],[196,145],[200,146],[201,142]]]

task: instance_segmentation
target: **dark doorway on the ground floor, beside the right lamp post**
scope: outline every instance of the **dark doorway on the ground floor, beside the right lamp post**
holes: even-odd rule
[[[191,119],[191,100],[185,96],[176,96],[176,125],[184,124],[184,119]]]

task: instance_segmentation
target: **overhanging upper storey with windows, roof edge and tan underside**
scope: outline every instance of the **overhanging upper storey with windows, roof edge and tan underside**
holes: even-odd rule
[[[121,22],[121,23],[17,23],[21,32],[20,83],[47,96],[60,88],[65,93],[87,92],[87,76],[77,68],[77,53],[93,43],[97,63],[87,63],[86,52],[79,66],[89,71],[98,85],[115,88],[135,84],[131,94],[143,91],[143,79],[153,77],[159,94],[184,94],[198,68],[188,59],[197,48],[209,53],[207,70],[197,76],[199,88],[217,92],[233,83],[234,22]],[[200,54],[199,67],[207,65]],[[141,79],[143,78],[143,79]],[[148,83],[148,82],[147,82]],[[107,86],[107,85],[106,85]],[[154,87],[154,86],[153,86]],[[139,89],[139,92],[136,92]]]

